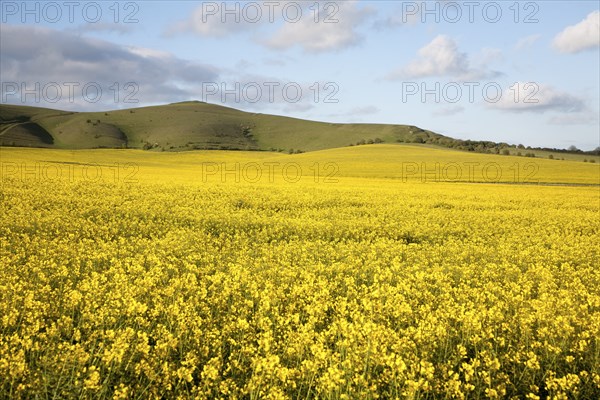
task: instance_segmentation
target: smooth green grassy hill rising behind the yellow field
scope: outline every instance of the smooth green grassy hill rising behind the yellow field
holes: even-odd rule
[[[292,152],[431,138],[444,137],[414,126],[330,124],[195,101],[91,113],[0,105],[4,146]]]

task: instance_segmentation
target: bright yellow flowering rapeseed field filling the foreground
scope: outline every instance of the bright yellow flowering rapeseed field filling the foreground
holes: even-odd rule
[[[0,149],[0,397],[600,397],[600,165]]]

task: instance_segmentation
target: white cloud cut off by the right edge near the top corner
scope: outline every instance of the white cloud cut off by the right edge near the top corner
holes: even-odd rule
[[[600,11],[593,11],[576,25],[565,28],[554,38],[562,53],[579,53],[600,47]]]

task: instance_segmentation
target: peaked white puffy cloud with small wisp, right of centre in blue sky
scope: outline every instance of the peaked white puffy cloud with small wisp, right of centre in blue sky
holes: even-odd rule
[[[484,49],[483,64],[497,59],[501,54],[495,49]],[[452,77],[459,80],[486,79],[498,76],[482,65],[475,68],[471,65],[466,53],[458,49],[456,42],[446,35],[436,36],[430,43],[422,47],[415,60],[391,73],[389,79]]]

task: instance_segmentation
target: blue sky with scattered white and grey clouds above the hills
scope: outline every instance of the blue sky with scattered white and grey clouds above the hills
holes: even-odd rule
[[[2,103],[203,100],[600,145],[598,1],[0,2]]]

